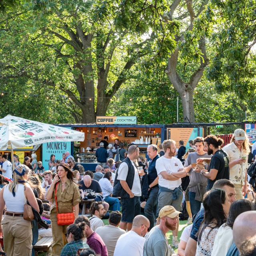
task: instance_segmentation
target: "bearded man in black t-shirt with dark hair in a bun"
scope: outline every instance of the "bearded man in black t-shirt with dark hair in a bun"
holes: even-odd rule
[[[196,161],[206,162],[209,164],[209,170],[206,172],[204,169],[200,169],[198,165],[196,166],[195,172],[200,172],[204,177],[207,178],[207,188],[206,190],[212,189],[212,186],[216,180],[227,179],[229,180],[229,157],[225,151],[220,149],[223,140],[217,138],[214,135],[208,135],[204,139],[204,150],[210,156],[213,155],[211,159],[209,158],[198,158]]]

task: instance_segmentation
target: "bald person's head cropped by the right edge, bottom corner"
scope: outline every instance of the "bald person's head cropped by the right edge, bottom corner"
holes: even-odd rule
[[[249,237],[256,235],[256,211],[241,213],[233,226],[234,244],[228,250],[227,256],[239,256],[241,244]]]

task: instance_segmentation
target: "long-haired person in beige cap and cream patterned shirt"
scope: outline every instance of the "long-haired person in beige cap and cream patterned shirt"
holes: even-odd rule
[[[236,129],[230,142],[223,150],[229,157],[229,179],[235,185],[236,199],[239,200],[247,193],[249,140],[244,130]]]

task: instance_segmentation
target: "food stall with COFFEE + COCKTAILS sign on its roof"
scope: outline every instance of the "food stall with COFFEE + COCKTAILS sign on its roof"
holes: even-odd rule
[[[136,116],[97,116],[96,124],[59,125],[84,132],[84,142],[74,142],[71,150],[76,162],[82,164],[84,170],[95,170],[95,152],[105,136],[108,137],[108,143],[113,145],[118,138],[126,150],[132,143],[138,145],[140,156],[144,158],[148,144],[159,145],[164,140],[164,136],[161,136],[164,134],[164,124],[138,124]]]

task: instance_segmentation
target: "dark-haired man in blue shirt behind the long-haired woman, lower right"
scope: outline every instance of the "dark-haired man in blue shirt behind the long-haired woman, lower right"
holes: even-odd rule
[[[226,194],[228,195],[228,201],[230,202],[230,204],[236,201],[235,185],[230,180],[226,180],[226,179],[217,180],[213,184],[213,188],[221,188],[225,190]],[[203,218],[204,218],[204,208],[198,212],[198,214],[196,215],[196,218],[194,219],[192,230],[190,233],[190,238],[188,239],[186,249],[185,249],[186,256],[196,255],[196,245],[198,240],[196,233],[199,230],[199,227],[201,225]]]

